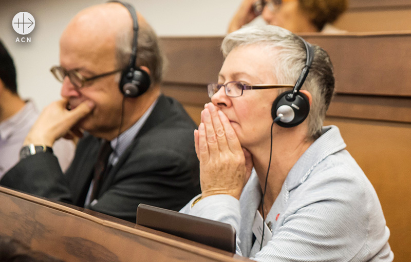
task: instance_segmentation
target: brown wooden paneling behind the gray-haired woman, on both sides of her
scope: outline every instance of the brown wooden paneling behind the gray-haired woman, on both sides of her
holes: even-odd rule
[[[337,125],[347,149],[375,187],[396,262],[411,257],[411,32],[304,35],[334,65],[336,92],[325,125]],[[217,80],[222,37],[162,37],[170,68],[162,88],[200,123],[206,85]]]

